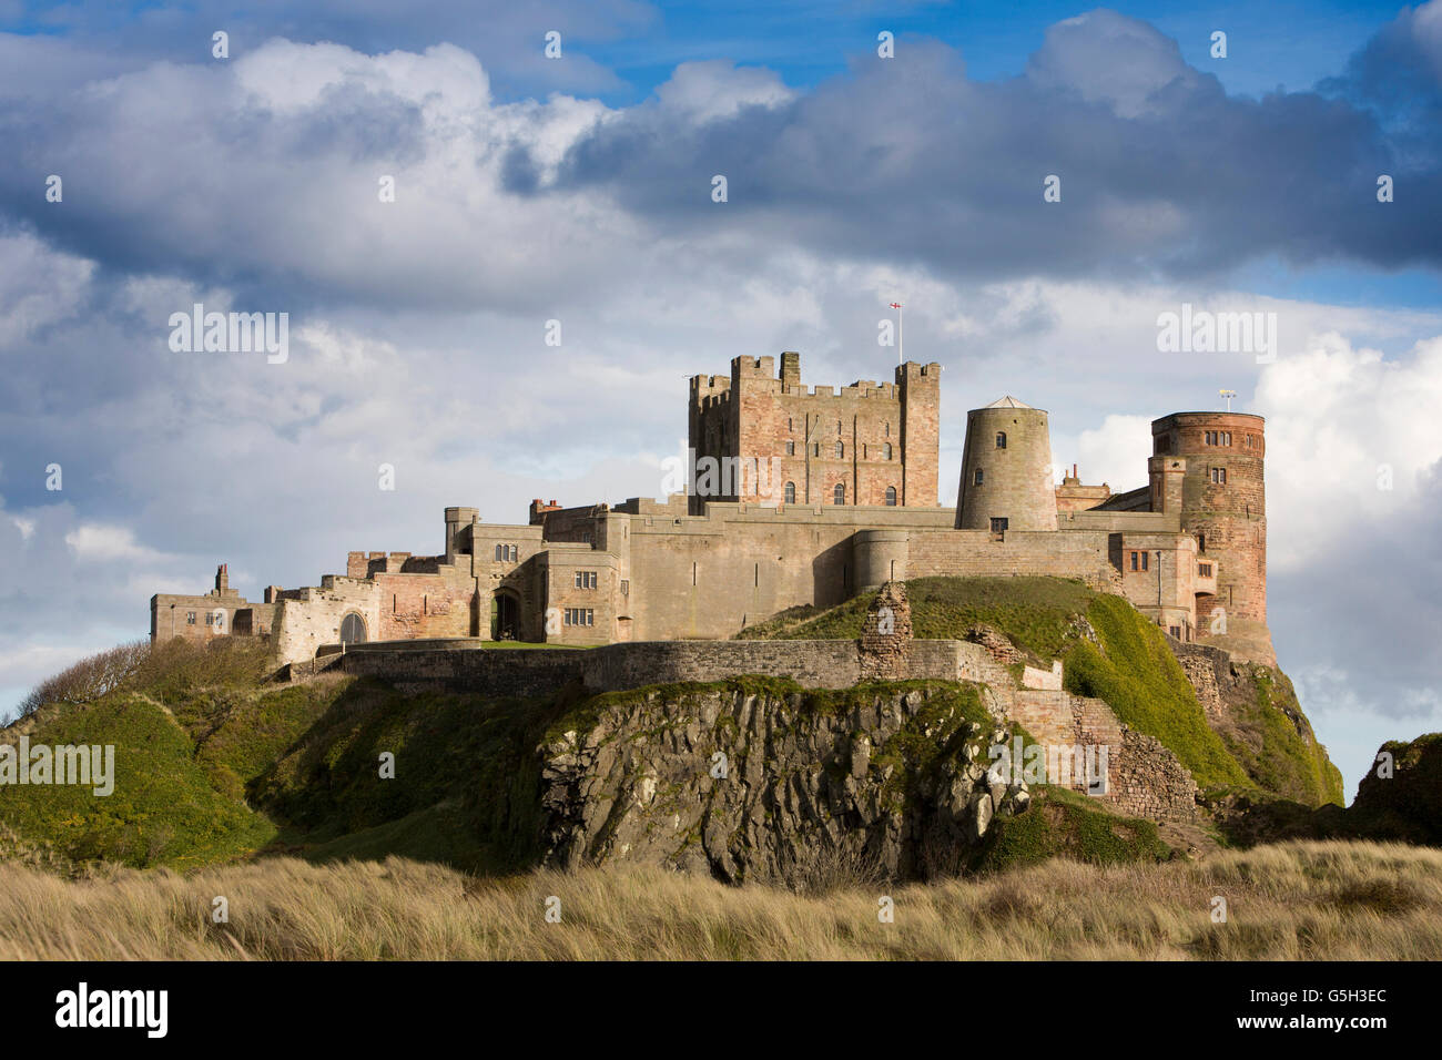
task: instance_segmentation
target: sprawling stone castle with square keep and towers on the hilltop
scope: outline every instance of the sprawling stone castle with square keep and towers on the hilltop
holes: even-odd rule
[[[153,640],[267,636],[281,662],[418,637],[572,646],[725,639],[885,581],[1045,574],[1125,596],[1181,642],[1275,663],[1266,627],[1263,420],[1152,421],[1145,486],[1056,485],[1047,412],[966,414],[956,508],[937,506],[940,365],[808,388],[800,355],[691,379],[684,487],[665,499],[531,503],[523,525],[447,508],[444,551],[350,552],[319,587],[156,594]]]

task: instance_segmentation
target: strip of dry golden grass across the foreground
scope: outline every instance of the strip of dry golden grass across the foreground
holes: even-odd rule
[[[0,958],[1429,959],[1442,851],[1296,842],[1204,862],[1053,861],[978,881],[802,897],[660,870],[472,880],[401,861],[277,858],[61,880],[0,865]],[[211,923],[215,896],[229,923]],[[547,923],[548,896],[561,923]],[[1227,923],[1211,923],[1224,896]]]

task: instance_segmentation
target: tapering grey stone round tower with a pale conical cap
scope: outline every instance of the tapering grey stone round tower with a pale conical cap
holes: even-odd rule
[[[1040,408],[1007,397],[966,414],[956,528],[1054,531],[1051,430]]]

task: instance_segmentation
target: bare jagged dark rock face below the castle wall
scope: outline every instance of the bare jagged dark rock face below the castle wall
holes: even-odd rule
[[[646,861],[825,885],[844,871],[959,871],[1022,782],[988,773],[1011,733],[975,686],[816,694],[776,685],[603,697],[542,748],[542,861]]]

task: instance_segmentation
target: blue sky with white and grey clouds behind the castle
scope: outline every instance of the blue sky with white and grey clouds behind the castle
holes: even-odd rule
[[[1120,490],[1237,391],[1350,792],[1442,730],[1442,0],[970,7],[0,0],[0,710],[222,561],[258,597],[446,505],[653,496],[689,375],[885,379],[900,300],[943,496],[1001,394]],[[174,352],[195,303],[288,359]],[[1182,304],[1275,356],[1159,350]]]

